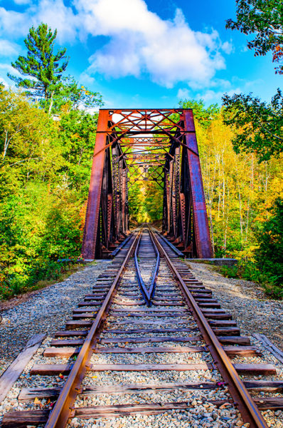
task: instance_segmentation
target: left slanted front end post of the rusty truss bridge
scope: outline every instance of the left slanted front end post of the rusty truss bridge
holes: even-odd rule
[[[85,260],[95,259],[97,242],[97,227],[100,217],[100,195],[102,187],[103,168],[105,163],[105,150],[107,141],[107,124],[109,113],[100,110],[97,121],[97,135],[95,138],[95,153],[92,161],[90,175],[90,190],[87,200],[87,213],[85,215],[85,230],[82,240],[82,257]]]

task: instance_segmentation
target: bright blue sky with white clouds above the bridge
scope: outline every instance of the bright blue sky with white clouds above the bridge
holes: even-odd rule
[[[220,103],[223,93],[268,101],[280,86],[271,54],[255,58],[247,36],[225,29],[235,0],[0,0],[0,79],[41,21],[58,29],[68,73],[109,108],[175,107],[180,98]]]

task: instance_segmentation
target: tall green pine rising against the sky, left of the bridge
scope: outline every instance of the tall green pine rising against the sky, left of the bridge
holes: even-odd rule
[[[18,56],[12,66],[22,75],[17,77],[8,73],[9,78],[20,88],[26,88],[28,96],[43,98],[45,107],[50,113],[53,97],[60,88],[62,73],[68,66],[69,58],[65,56],[66,49],[59,49],[54,54],[54,43],[57,30],[52,32],[47,24],[41,23],[37,29],[29,29],[24,44],[28,49],[27,56]],[[62,62],[63,61],[63,62]]]

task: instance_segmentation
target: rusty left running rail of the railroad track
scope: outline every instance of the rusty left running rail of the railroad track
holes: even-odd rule
[[[92,327],[90,327],[90,331],[88,332],[85,342],[82,345],[78,358],[75,361],[72,370],[70,371],[68,379],[65,382],[65,385],[63,386],[63,389],[61,390],[52,411],[50,412],[48,421],[46,422],[46,428],[63,428],[65,427],[65,424],[67,424],[68,419],[73,416],[72,406],[80,392],[80,385],[82,379],[85,376],[85,372],[87,372],[87,364],[92,357],[95,340],[97,339],[100,326],[105,320],[105,312],[107,312],[107,309],[110,307],[114,291],[117,285],[119,285],[122,273],[124,272],[124,269],[129,262],[129,258],[132,255],[135,245],[137,245],[137,241],[139,240],[141,233],[142,229],[139,230],[137,236],[134,238],[134,241],[130,246],[129,251],[119,269],[119,272],[117,273],[116,277],[114,277],[114,281],[110,287],[110,290],[107,292],[102,307],[100,307],[100,310],[97,313],[97,317],[92,323]]]

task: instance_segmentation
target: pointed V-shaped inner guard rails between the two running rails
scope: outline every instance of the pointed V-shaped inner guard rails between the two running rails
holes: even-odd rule
[[[144,229],[144,226],[142,226],[142,230]],[[149,287],[149,290],[147,290],[145,284],[144,284],[144,280],[142,279],[142,272],[139,268],[139,260],[138,260],[138,251],[139,251],[139,245],[141,243],[141,239],[142,239],[142,234],[139,235],[139,240],[136,246],[136,249],[134,251],[134,265],[136,266],[136,270],[137,270],[137,280],[139,282],[139,287],[141,288],[142,291],[142,296],[144,297],[144,300],[146,302],[147,306],[151,306],[152,302],[151,299],[154,297],[154,292],[155,292],[155,285],[156,285],[156,280],[157,280],[157,275],[159,272],[159,265],[160,265],[160,253],[159,250],[157,249],[154,240],[151,237],[151,234],[149,233],[149,237],[151,238],[151,243],[154,247],[154,251],[156,253],[156,264],[154,267],[154,272],[152,275],[152,279],[151,279],[151,284]]]

